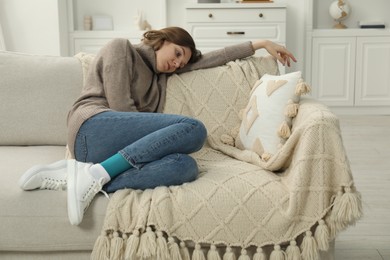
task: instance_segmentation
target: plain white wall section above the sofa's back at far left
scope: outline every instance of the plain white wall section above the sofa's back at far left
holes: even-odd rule
[[[0,0],[0,23],[8,51],[61,55],[64,21],[59,8],[65,0]],[[66,5],[65,5],[66,6]]]

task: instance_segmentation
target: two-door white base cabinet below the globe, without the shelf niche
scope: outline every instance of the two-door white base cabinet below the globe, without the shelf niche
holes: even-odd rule
[[[312,38],[313,95],[330,106],[390,106],[390,36],[322,34]]]

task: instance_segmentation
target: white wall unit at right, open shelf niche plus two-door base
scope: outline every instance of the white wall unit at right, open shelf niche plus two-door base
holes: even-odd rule
[[[331,29],[330,3],[306,0],[305,78],[336,113],[390,114],[390,1],[349,1],[347,29]],[[385,29],[360,29],[383,21]]]

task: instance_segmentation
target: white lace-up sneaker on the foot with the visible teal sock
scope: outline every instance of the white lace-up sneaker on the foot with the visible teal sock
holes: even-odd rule
[[[68,217],[72,225],[81,223],[84,212],[98,192],[105,193],[102,187],[107,180],[94,178],[89,172],[91,166],[77,161],[68,162]]]

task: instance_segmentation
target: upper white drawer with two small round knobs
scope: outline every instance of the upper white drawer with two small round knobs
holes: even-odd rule
[[[187,8],[187,22],[220,23],[220,22],[285,22],[284,8],[253,9],[190,9]]]

